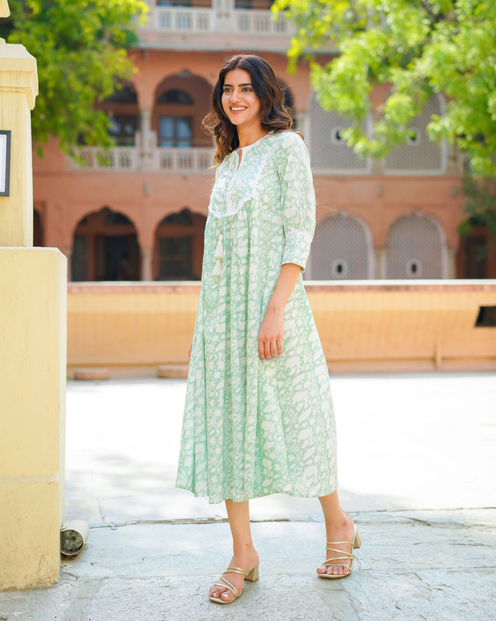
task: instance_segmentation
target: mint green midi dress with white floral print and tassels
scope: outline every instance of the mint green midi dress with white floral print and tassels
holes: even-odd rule
[[[270,133],[216,170],[176,486],[209,502],[337,485],[329,373],[302,277],[285,306],[283,353],[258,357],[258,331],[285,263],[304,268],[315,228],[309,155]]]

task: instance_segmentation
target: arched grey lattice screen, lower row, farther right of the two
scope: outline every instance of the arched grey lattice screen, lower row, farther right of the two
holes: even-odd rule
[[[444,231],[419,213],[393,222],[386,239],[386,278],[444,278]]]

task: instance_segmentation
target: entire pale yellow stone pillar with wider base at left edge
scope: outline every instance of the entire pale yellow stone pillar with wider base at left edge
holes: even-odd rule
[[[0,195],[0,590],[51,584],[60,564],[67,264],[56,248],[32,248],[37,92],[36,60],[0,39],[0,130],[10,131],[9,195]]]

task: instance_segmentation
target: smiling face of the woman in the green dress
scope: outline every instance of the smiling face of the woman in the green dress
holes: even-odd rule
[[[225,75],[222,104],[227,118],[238,129],[261,127],[260,99],[244,69],[234,69]]]

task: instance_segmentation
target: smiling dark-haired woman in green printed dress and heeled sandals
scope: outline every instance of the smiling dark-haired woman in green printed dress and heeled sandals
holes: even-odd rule
[[[309,155],[269,64],[230,59],[204,124],[216,182],[176,484],[225,500],[234,555],[209,597],[227,604],[258,578],[250,498],[320,498],[321,578],[348,575],[360,539],[336,491],[329,373],[301,276],[315,228]]]

